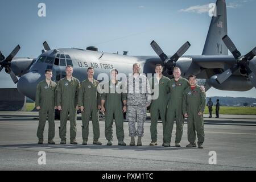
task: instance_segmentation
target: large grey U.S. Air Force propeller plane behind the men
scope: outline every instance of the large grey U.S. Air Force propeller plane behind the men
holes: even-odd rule
[[[208,90],[211,86],[220,90],[246,91],[256,88],[256,47],[242,56],[227,35],[226,2],[217,0],[216,15],[210,22],[207,39],[201,56],[182,56],[190,47],[186,42],[173,55],[167,56],[153,40],[151,47],[158,56],[128,56],[99,52],[96,47],[86,50],[79,48],[49,48],[47,42],[37,59],[14,58],[20,47],[17,46],[5,58],[0,52],[0,71],[5,68],[17,83],[20,93],[35,101],[36,85],[44,80],[44,71],[53,70],[53,80],[65,77],[66,65],[73,66],[73,76],[84,80],[86,69],[94,68],[94,76],[106,73],[110,76],[111,69],[128,75],[134,63],[141,64],[141,71],[154,74],[155,65],[162,64],[163,75],[172,77],[172,69],[179,67],[183,77],[196,75],[199,82]],[[232,56],[228,55],[228,49]],[[181,57],[182,56],[182,57]],[[160,58],[159,58],[160,57]],[[169,58],[170,57],[170,58]],[[12,61],[13,60],[13,61]],[[16,78],[16,76],[19,76]]]

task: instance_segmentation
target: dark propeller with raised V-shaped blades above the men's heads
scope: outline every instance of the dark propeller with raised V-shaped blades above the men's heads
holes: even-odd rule
[[[154,40],[150,43],[150,46],[154,49],[156,54],[163,61],[164,68],[167,69],[168,75],[172,75],[172,71],[176,65],[176,61],[188,50],[191,44],[189,42],[185,42],[183,46],[181,46],[179,50],[177,50],[177,52],[170,58],[167,57],[167,55],[163,52],[163,50],[160,48],[160,46],[158,46],[158,44]]]

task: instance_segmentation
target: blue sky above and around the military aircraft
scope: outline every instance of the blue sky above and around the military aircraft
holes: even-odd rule
[[[46,17],[38,4],[46,4]],[[185,41],[187,55],[201,55],[211,17],[205,5],[216,1],[170,0],[1,0],[0,50],[3,55],[20,44],[17,57],[38,57],[47,40],[51,48],[97,46],[104,52],[155,55],[156,40],[172,55]],[[256,0],[227,0],[228,34],[242,54],[256,46]],[[7,81],[8,80],[8,81]],[[4,71],[1,88],[15,87]],[[207,96],[254,97],[256,89],[226,92],[210,89]]]

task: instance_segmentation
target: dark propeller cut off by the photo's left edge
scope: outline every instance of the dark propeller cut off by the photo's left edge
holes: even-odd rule
[[[10,74],[11,79],[13,80],[14,84],[18,82],[18,78],[16,77],[15,73],[11,70],[11,60],[13,60],[14,56],[16,53],[18,53],[20,49],[20,46],[16,46],[13,51],[10,53],[9,56],[5,58],[5,56],[2,55],[2,52],[0,51],[0,72],[2,71],[3,68],[6,69],[6,72]]]

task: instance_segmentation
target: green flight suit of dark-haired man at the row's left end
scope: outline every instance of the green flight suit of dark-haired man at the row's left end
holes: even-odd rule
[[[44,126],[46,126],[46,118],[48,116],[48,141],[55,137],[55,123],[54,123],[54,107],[56,106],[56,90],[57,84],[51,81],[49,86],[46,80],[39,82],[36,87],[36,102],[35,106],[40,106],[39,110],[39,124],[37,137],[43,140]]]

